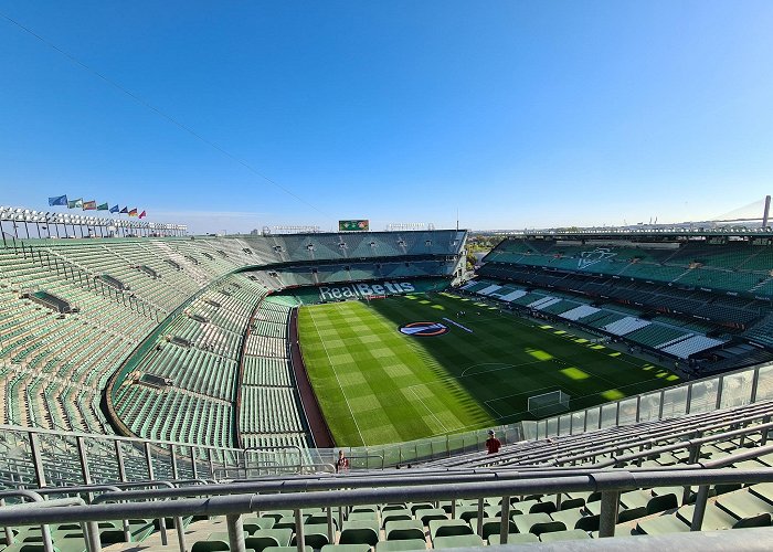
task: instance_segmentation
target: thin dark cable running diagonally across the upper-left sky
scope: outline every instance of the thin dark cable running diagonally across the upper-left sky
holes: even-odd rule
[[[282,190],[282,191],[285,192],[287,195],[289,195],[289,197],[296,199],[297,201],[299,201],[300,203],[305,204],[306,206],[309,206],[309,208],[314,209],[315,211],[317,211],[318,213],[324,214],[324,215],[327,216],[327,213],[325,213],[322,210],[320,210],[320,209],[317,208],[316,205],[313,205],[311,203],[309,203],[308,201],[306,201],[306,200],[303,199],[301,197],[297,195],[297,194],[294,193],[290,189],[284,187],[283,184],[280,184],[280,183],[277,182],[276,180],[273,180],[273,179],[268,178],[267,176],[263,174],[261,171],[258,171],[257,169],[255,169],[253,166],[251,166],[251,164],[250,164],[248,162],[246,162],[245,160],[243,160],[243,159],[241,159],[241,158],[234,156],[234,155],[231,153],[230,151],[223,149],[221,146],[218,146],[218,145],[216,145],[215,142],[213,142],[212,140],[210,140],[210,139],[208,139],[208,138],[201,136],[199,132],[197,132],[195,130],[193,130],[191,127],[189,127],[189,126],[186,125],[184,123],[180,123],[179,120],[177,120],[177,119],[176,119],[174,117],[172,117],[171,115],[168,115],[167,113],[162,112],[161,109],[159,109],[159,108],[156,107],[155,105],[150,104],[148,100],[146,100],[146,99],[142,98],[141,96],[139,96],[139,95],[135,94],[134,92],[129,91],[128,88],[121,86],[119,83],[117,83],[116,81],[112,79],[112,78],[108,77],[107,75],[105,75],[105,74],[100,73],[99,71],[97,71],[97,70],[91,67],[89,65],[86,65],[86,64],[83,63],[81,60],[78,60],[77,57],[75,57],[75,56],[72,55],[71,53],[68,53],[68,52],[62,50],[61,47],[59,47],[56,44],[54,44],[53,42],[49,41],[47,39],[41,36],[40,34],[38,34],[35,31],[33,31],[33,30],[30,29],[29,26],[23,25],[22,23],[20,23],[20,22],[17,21],[15,19],[11,18],[10,15],[8,15],[8,14],[1,12],[1,11],[0,11],[0,18],[3,18],[4,20],[7,20],[7,21],[9,21],[10,23],[14,24],[15,26],[18,26],[19,29],[21,29],[21,30],[24,31],[25,33],[30,34],[31,36],[34,36],[35,39],[38,39],[40,42],[42,42],[42,43],[45,44],[46,46],[49,46],[49,47],[51,47],[52,50],[59,52],[59,53],[62,54],[64,57],[66,57],[67,60],[70,60],[72,63],[74,63],[75,65],[80,66],[81,68],[87,71],[87,72],[91,73],[92,75],[94,75],[94,76],[100,78],[103,82],[107,83],[107,84],[110,85],[112,87],[116,88],[116,89],[119,91],[119,92],[123,92],[125,95],[127,95],[127,96],[129,96],[131,99],[134,99],[137,104],[141,105],[142,107],[146,107],[147,109],[151,110],[152,113],[155,113],[155,114],[158,115],[159,117],[166,119],[168,123],[171,123],[172,125],[177,126],[178,128],[184,130],[184,131],[188,132],[189,135],[191,135],[191,136],[193,136],[194,138],[197,138],[199,141],[201,141],[201,142],[205,144],[207,146],[209,146],[209,147],[215,149],[216,151],[219,151],[219,152],[222,153],[223,156],[227,157],[227,158],[231,159],[232,161],[237,162],[239,164],[241,164],[242,167],[244,167],[245,169],[247,169],[250,172],[252,172],[252,173],[255,174],[256,177],[258,177],[258,178],[265,180],[265,181],[268,182],[269,184],[274,185],[274,187],[277,188],[278,190]]]

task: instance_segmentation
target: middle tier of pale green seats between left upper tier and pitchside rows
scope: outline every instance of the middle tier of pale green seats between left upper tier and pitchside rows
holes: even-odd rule
[[[130,378],[117,382],[116,411],[133,433],[170,440],[192,437],[194,443],[233,445],[231,416],[235,410],[242,341],[250,312],[265,294],[262,284],[243,275],[231,275],[195,297],[186,311],[169,322],[153,349],[136,364]],[[145,374],[160,378],[166,385],[147,391]],[[149,397],[157,403],[156,408],[172,416],[161,416],[153,425],[148,425],[148,406],[137,401],[138,396]],[[215,437],[209,433],[197,437],[191,429],[202,418],[224,427],[212,434]]]

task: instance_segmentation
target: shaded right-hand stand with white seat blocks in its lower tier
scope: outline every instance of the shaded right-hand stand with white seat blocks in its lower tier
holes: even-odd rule
[[[528,235],[502,241],[462,290],[624,339],[700,370],[754,360],[770,346],[773,265],[765,240],[684,235]],[[515,286],[511,295],[485,286]],[[563,294],[563,295],[560,295]],[[548,300],[561,297],[561,301]],[[569,307],[568,301],[581,305]],[[731,354],[727,354],[732,351]],[[764,358],[764,355],[763,355]]]

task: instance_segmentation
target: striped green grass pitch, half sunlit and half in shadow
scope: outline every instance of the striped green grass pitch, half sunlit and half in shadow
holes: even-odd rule
[[[415,321],[449,331],[399,331]],[[528,397],[559,389],[576,410],[679,382],[653,363],[452,294],[301,307],[299,333],[322,413],[343,446],[533,420]]]

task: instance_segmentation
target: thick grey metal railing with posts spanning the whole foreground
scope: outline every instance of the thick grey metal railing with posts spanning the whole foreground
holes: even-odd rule
[[[745,456],[745,455],[744,455]],[[733,458],[717,460],[716,465],[728,465]],[[158,490],[104,490],[92,503],[51,507],[13,506],[0,508],[0,527],[46,526],[50,523],[82,523],[89,552],[99,552],[95,535],[96,522],[126,519],[172,518],[178,528],[183,517],[225,516],[230,550],[245,552],[242,516],[266,510],[293,510],[298,551],[305,550],[304,517],[306,508],[322,508],[328,517],[328,530],[332,527],[332,512],[361,505],[385,505],[449,500],[477,500],[483,511],[484,500],[501,497],[500,519],[510,518],[510,498],[530,495],[561,495],[565,492],[600,493],[599,537],[614,537],[618,519],[622,492],[657,487],[698,486],[691,531],[700,531],[712,485],[773,482],[772,469],[680,469],[652,471],[646,469],[591,471],[576,470],[543,473],[452,473],[415,470],[414,475],[385,474],[382,477],[319,477],[298,478],[294,481],[253,481],[230,485],[202,485],[197,487],[167,488]],[[288,485],[290,484],[290,485]],[[325,489],[325,490],[317,490]],[[59,489],[60,493],[68,489]],[[96,488],[71,489],[71,493],[92,493]],[[272,492],[273,491],[273,492]],[[280,491],[280,492],[279,492]],[[168,500],[177,498],[176,500]],[[452,509],[452,517],[455,510]],[[483,516],[478,516],[478,534],[481,534]],[[509,526],[500,523],[500,542],[507,543]],[[98,534],[98,533],[97,533]],[[186,535],[178,529],[178,544],[187,550]]]

